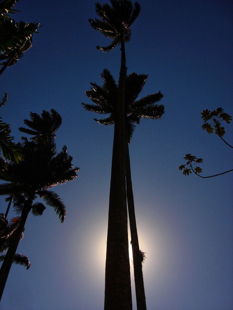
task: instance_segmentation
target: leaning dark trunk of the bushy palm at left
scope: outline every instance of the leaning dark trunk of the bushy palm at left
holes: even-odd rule
[[[8,274],[10,272],[11,265],[13,263],[13,259],[14,259],[14,256],[16,254],[17,247],[18,247],[19,241],[21,239],[21,236],[22,236],[22,233],[24,230],[26,219],[27,219],[28,214],[31,210],[31,205],[32,205],[32,201],[28,201],[28,200],[25,201],[24,208],[22,210],[22,214],[21,214],[21,218],[20,218],[19,228],[14,233],[14,238],[11,242],[11,245],[9,246],[9,248],[7,250],[6,257],[2,263],[2,267],[0,269],[0,300],[2,298],[2,293],[4,291],[4,288],[5,288],[5,285],[7,282],[7,277],[8,277]]]

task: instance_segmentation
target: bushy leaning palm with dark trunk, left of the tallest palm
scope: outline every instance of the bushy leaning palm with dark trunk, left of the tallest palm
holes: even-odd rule
[[[21,148],[25,160],[15,164],[9,163],[8,169],[0,172],[0,195],[14,195],[13,205],[20,215],[19,225],[14,232],[13,240],[8,248],[0,270],[0,297],[2,296],[7,277],[11,268],[18,243],[21,239],[26,219],[30,211],[34,215],[42,215],[45,206],[33,201],[42,198],[48,206],[53,207],[61,222],[64,222],[66,206],[61,198],[49,188],[71,181],[77,177],[78,167],[71,163],[66,146],[60,153],[56,152],[55,132],[62,122],[61,116],[55,111],[43,111],[41,116],[30,113],[31,120],[24,120],[30,128],[21,127],[20,131],[34,135],[30,141],[22,137]]]

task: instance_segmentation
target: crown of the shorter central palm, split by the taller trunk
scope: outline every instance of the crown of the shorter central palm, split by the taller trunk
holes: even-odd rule
[[[82,105],[88,111],[99,114],[110,114],[106,118],[94,118],[94,120],[103,125],[112,125],[115,122],[118,84],[107,69],[103,70],[101,77],[103,78],[102,86],[98,86],[96,83],[90,83],[92,88],[85,91],[86,96],[94,104],[82,103]],[[128,142],[132,138],[135,123],[139,124],[142,118],[160,119],[164,113],[163,104],[156,104],[163,97],[160,91],[136,100],[147,78],[148,75],[137,74],[135,72],[126,75],[125,116]]]

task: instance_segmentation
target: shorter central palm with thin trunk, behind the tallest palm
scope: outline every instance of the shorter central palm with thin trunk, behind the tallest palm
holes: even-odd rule
[[[112,77],[111,73],[105,69],[101,74],[103,78],[103,86],[91,83],[92,89],[85,92],[94,104],[83,104],[84,108],[89,111],[100,114],[110,114],[106,118],[96,119],[95,121],[103,125],[112,125],[116,116],[116,96],[118,85]],[[144,282],[142,274],[142,252],[139,249],[138,234],[135,219],[134,198],[130,171],[130,155],[129,143],[132,138],[135,123],[139,124],[142,117],[158,119],[164,113],[163,105],[155,104],[160,101],[163,95],[158,92],[147,95],[136,100],[142,91],[148,76],[145,74],[130,73],[126,76],[125,89],[125,146],[126,146],[126,193],[130,220],[130,234],[134,262],[135,291],[137,300],[137,309],[146,309]]]

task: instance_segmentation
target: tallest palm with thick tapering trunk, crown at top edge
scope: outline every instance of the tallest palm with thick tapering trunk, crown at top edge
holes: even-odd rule
[[[128,250],[127,202],[125,178],[125,42],[130,40],[130,26],[140,12],[140,5],[134,6],[128,0],[111,0],[103,6],[95,4],[100,19],[89,19],[94,30],[99,30],[112,42],[107,47],[97,46],[101,51],[111,51],[121,45],[121,69],[117,92],[116,119],[114,126],[112,170],[109,195],[107,253],[105,265],[104,309],[131,309],[130,263]]]

